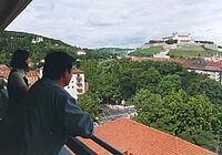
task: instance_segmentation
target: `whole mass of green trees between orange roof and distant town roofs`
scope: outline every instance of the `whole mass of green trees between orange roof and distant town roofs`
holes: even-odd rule
[[[221,140],[214,141],[222,135],[220,83],[168,61],[80,61],[80,69],[100,104],[124,99],[135,105],[133,120],[182,138],[189,134],[185,140],[208,149],[221,149]]]

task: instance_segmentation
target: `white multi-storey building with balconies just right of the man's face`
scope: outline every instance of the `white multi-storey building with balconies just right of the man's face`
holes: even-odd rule
[[[88,83],[84,81],[84,71],[74,68],[71,81],[64,90],[67,90],[75,100],[79,95],[85,93]]]

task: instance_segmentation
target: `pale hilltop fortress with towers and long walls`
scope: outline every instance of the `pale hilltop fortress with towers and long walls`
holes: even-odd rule
[[[176,40],[178,43],[168,44],[165,41],[168,40]],[[150,46],[159,46],[162,45],[164,49],[176,49],[179,46],[204,46],[211,50],[219,50],[215,43],[200,43],[191,38],[191,33],[188,35],[180,35],[178,32],[172,33],[172,37],[162,38],[162,40],[153,40],[155,43],[145,43],[141,45],[141,49],[149,49]]]

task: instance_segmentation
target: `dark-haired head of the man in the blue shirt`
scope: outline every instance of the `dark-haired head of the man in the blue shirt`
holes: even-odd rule
[[[65,52],[47,54],[44,59],[43,76],[51,80],[63,80],[63,86],[68,85],[72,74],[72,65],[75,60]]]

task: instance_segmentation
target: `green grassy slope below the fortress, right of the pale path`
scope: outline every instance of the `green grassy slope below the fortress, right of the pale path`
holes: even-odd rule
[[[174,58],[186,58],[186,56],[212,56],[219,51],[204,49],[203,46],[181,46],[175,50],[170,50],[169,55]]]

